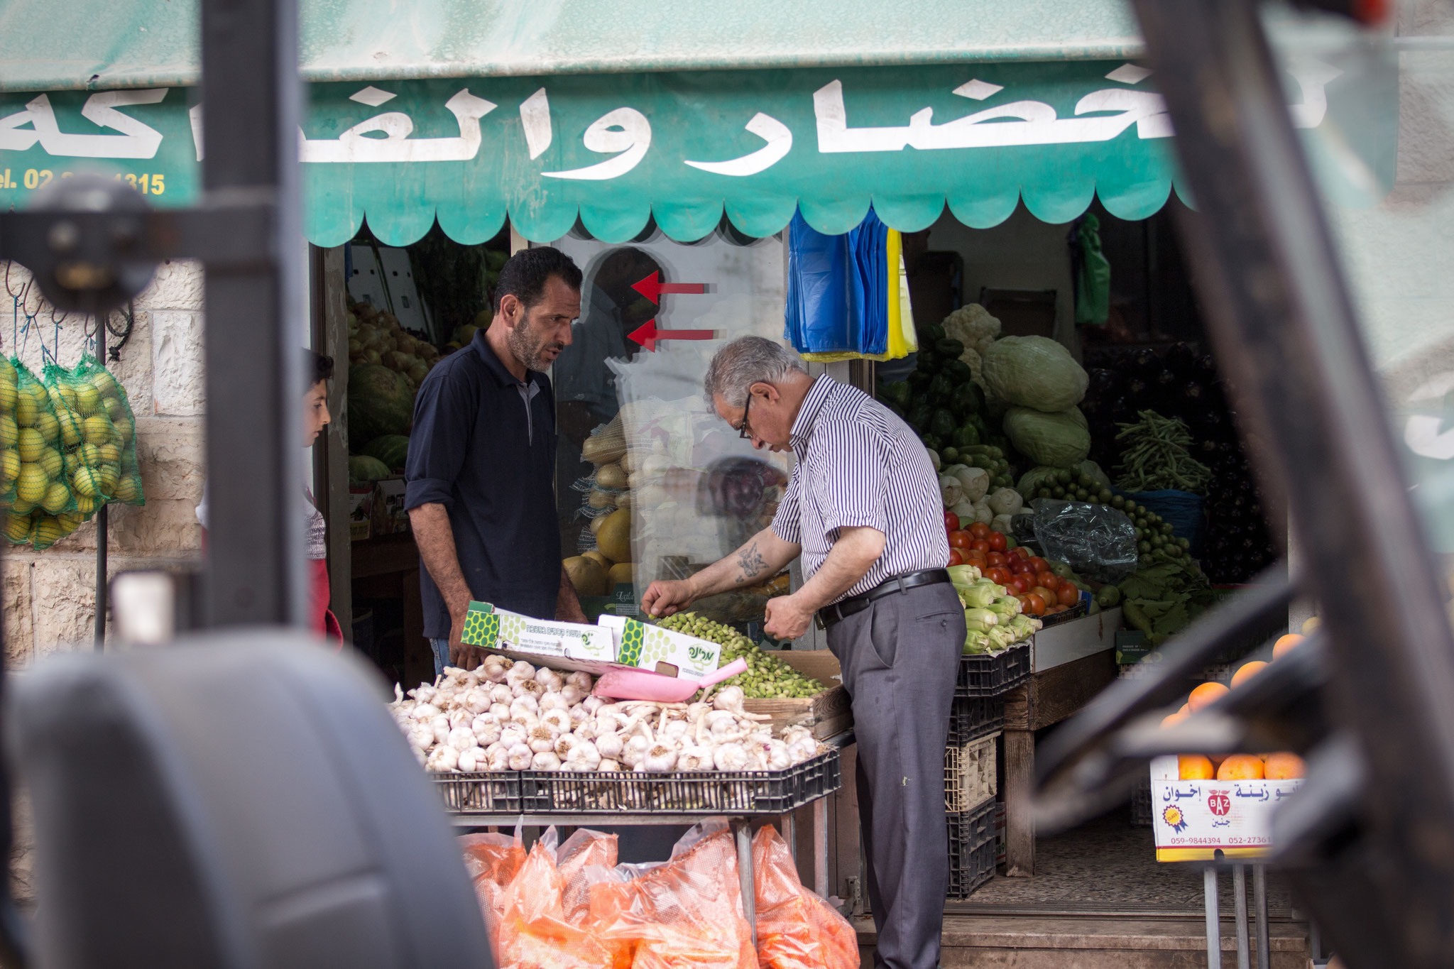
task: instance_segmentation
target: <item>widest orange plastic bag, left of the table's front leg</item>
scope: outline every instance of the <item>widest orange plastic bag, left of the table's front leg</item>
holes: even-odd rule
[[[727,830],[640,877],[608,875],[590,886],[586,925],[615,969],[756,969]]]

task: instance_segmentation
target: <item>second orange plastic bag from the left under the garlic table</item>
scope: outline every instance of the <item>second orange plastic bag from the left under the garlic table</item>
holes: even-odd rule
[[[537,843],[505,891],[499,969],[611,969],[606,947],[566,920],[564,895],[554,851]]]

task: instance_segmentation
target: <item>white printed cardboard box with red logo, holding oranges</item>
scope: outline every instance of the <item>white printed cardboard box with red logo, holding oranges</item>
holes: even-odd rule
[[[1303,782],[1179,780],[1175,757],[1152,761],[1157,861],[1258,857],[1272,846],[1272,814]]]

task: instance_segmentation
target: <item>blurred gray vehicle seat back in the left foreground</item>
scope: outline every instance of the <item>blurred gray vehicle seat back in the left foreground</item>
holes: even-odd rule
[[[292,632],[12,680],[45,969],[487,968],[439,798],[361,661]]]

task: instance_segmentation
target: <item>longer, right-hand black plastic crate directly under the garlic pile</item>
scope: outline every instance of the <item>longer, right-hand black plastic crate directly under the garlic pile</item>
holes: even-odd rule
[[[776,815],[839,789],[839,751],[778,771],[521,771],[526,814]]]

